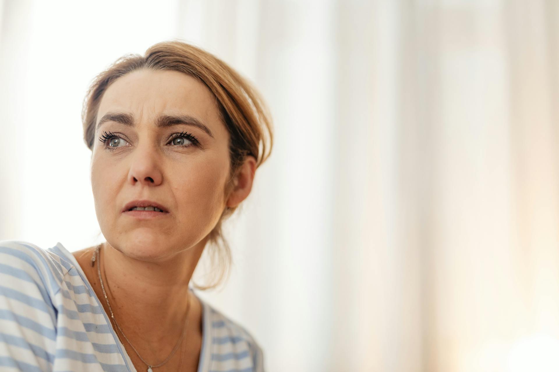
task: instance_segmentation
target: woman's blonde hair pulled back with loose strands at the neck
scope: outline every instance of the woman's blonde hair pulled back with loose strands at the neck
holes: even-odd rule
[[[224,190],[226,197],[233,189],[231,180],[247,156],[256,159],[257,168],[267,160],[273,143],[272,120],[258,91],[224,61],[182,41],[160,42],[149,47],[144,56],[125,55],[96,76],[87,91],[82,110],[83,139],[89,149],[93,151],[97,112],[103,93],[116,79],[140,69],[179,71],[196,78],[215,95],[221,119],[230,134],[231,172]],[[235,210],[236,207],[225,207],[209,234],[209,255],[215,280],[205,286],[194,283],[198,289],[215,288],[221,284],[225,274],[229,277],[231,249],[222,235],[221,224]]]

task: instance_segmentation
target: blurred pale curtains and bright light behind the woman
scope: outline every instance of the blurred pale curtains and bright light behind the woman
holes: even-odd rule
[[[267,371],[559,370],[559,2],[0,0],[0,240],[103,241],[82,100],[173,38],[272,111],[201,293]]]

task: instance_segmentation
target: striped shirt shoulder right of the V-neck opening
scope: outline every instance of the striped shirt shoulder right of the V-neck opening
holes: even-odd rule
[[[245,326],[208,303],[205,303],[205,306],[208,308],[214,357],[216,359],[220,359],[220,355],[225,358],[233,357],[239,362],[246,358],[250,360],[252,370],[262,371],[263,351],[253,334]]]

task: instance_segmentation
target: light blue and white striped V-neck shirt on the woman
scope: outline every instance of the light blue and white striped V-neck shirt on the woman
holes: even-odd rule
[[[262,349],[248,331],[198,299],[198,372],[263,372]],[[60,243],[42,249],[0,241],[0,370],[136,371],[82,268]]]

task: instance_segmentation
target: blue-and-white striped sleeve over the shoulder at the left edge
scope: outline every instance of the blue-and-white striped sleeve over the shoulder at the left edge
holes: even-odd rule
[[[59,312],[66,311],[59,300],[68,269],[51,250],[0,241],[0,355],[13,370],[52,370],[63,345],[57,330]]]

